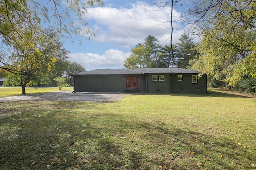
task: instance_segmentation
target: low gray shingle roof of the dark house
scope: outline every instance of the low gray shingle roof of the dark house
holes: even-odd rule
[[[183,68],[121,68],[121,69],[96,69],[79,72],[73,75],[108,75],[108,74],[148,74],[148,73],[177,73],[177,74],[198,74],[196,70]]]

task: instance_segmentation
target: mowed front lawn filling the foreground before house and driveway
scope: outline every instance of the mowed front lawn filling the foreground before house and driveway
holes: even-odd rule
[[[225,91],[119,102],[0,103],[0,169],[256,169],[256,99]]]

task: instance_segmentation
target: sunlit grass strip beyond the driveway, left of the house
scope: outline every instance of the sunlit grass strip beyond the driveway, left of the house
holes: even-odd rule
[[[45,93],[45,92],[54,92],[59,91],[58,87],[53,88],[33,88],[33,87],[26,87],[26,94],[32,94],[32,93]],[[62,90],[70,90],[73,91],[73,87],[64,87]],[[0,98],[4,97],[10,97],[10,96],[17,96],[22,94],[22,87],[1,87],[0,86]]]

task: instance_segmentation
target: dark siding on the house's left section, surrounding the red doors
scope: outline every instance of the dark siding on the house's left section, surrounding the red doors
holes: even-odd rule
[[[123,92],[126,90],[126,76],[131,75],[74,75],[74,92]],[[140,92],[146,92],[146,75],[132,76],[137,76]]]

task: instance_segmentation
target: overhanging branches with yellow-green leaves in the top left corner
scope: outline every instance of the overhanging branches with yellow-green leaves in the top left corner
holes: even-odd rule
[[[88,35],[93,33],[88,29],[88,23],[82,18],[88,7],[95,3],[103,5],[102,0],[66,0],[66,6],[61,0],[40,1],[36,0],[2,0],[0,3],[0,68],[16,74],[24,74],[15,67],[8,56],[15,50],[21,50],[20,42],[28,47],[34,46],[38,39],[42,39],[44,29],[42,23],[53,22],[54,29],[62,36],[71,38],[71,34]],[[72,20],[77,16],[76,22]],[[72,17],[71,17],[72,16]],[[78,24],[76,24],[78,23]],[[50,37],[47,41],[51,42]],[[8,66],[8,68],[6,68]]]

